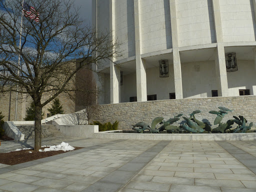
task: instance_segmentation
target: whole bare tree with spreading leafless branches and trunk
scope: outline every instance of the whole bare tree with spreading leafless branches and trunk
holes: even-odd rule
[[[31,96],[35,104],[34,149],[39,150],[42,107],[60,93],[74,91],[70,84],[80,68],[91,69],[87,67],[90,63],[100,65],[119,56],[119,43],[112,42],[111,31],[98,34],[86,25],[70,0],[28,2],[39,19],[23,15],[21,26],[21,0],[0,0],[0,91]],[[76,67],[69,64],[71,59],[76,59]],[[44,95],[49,96],[42,100]]]

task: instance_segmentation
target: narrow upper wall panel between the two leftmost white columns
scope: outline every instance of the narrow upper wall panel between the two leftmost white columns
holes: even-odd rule
[[[122,42],[122,58],[135,55],[135,29],[133,0],[115,0],[115,37]]]

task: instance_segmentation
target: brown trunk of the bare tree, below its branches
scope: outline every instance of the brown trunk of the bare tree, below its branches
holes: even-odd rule
[[[41,149],[41,112],[42,107],[35,103],[34,111],[34,150]]]

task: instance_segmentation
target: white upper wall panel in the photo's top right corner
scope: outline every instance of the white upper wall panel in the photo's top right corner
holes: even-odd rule
[[[252,0],[220,0],[223,41],[255,41]]]

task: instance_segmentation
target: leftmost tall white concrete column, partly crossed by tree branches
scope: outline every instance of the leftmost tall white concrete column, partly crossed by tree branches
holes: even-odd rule
[[[109,0],[109,29],[112,41],[115,41],[115,21],[114,21],[114,0]],[[113,61],[113,62],[112,62]],[[120,67],[114,64],[114,58],[110,61],[110,103],[120,102]]]

